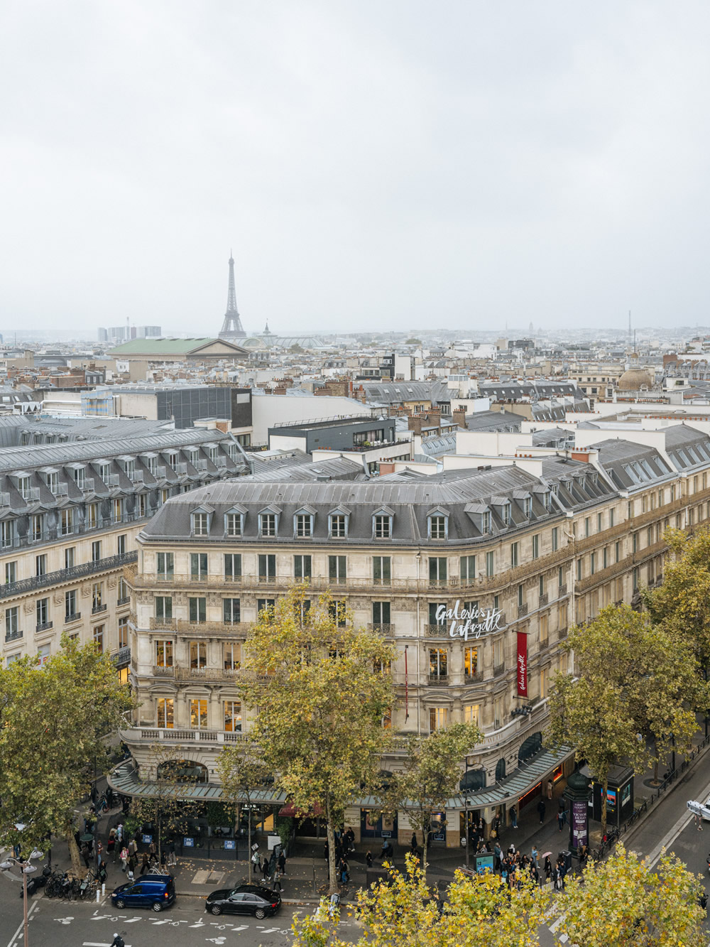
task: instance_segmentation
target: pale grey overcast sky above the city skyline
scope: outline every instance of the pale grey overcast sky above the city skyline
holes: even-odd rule
[[[707,322],[710,4],[4,0],[0,331]]]

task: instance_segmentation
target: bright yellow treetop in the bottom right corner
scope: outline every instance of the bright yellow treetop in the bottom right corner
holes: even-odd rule
[[[556,934],[577,947],[705,947],[702,885],[680,859],[651,868],[619,844],[581,877],[567,877]]]

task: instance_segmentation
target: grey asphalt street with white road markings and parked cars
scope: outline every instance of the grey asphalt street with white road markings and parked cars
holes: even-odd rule
[[[643,853],[652,861],[661,849],[675,852],[690,870],[704,878],[710,893],[706,856],[710,853],[710,822],[698,828],[687,811],[686,801],[704,801],[710,795],[710,757],[701,759],[698,768],[688,774],[673,791],[656,803],[648,818],[625,839],[627,848]],[[115,879],[118,884],[122,879]],[[113,884],[109,888],[113,888]],[[205,895],[208,892],[205,890]],[[0,877],[0,947],[26,947],[23,938],[23,905],[19,897],[18,879]],[[155,914],[148,910],[118,911],[111,906],[108,895],[103,902],[58,902],[37,896],[29,902],[29,945],[31,947],[103,947],[120,933],[127,947],[165,944],[170,947],[202,947],[218,944],[224,947],[290,947],[293,941],[291,921],[294,912],[312,912],[312,904],[283,904],[272,919],[219,917],[204,910],[204,899],[180,895],[168,910]],[[552,915],[541,931],[542,947],[555,944]],[[357,938],[358,927],[345,916],[341,936]],[[710,925],[708,925],[710,942]]]

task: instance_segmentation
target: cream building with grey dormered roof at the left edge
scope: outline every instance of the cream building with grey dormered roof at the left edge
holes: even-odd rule
[[[243,474],[240,447],[218,430],[145,421],[24,420],[0,438],[4,660],[44,661],[65,631],[115,655],[128,680],[123,568],[135,561],[136,534],[171,496]]]

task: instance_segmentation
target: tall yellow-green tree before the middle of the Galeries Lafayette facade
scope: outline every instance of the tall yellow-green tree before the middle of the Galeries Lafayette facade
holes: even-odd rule
[[[244,646],[238,687],[257,707],[251,736],[296,810],[322,813],[329,881],[337,891],[335,830],[346,806],[378,785],[389,742],[392,646],[353,626],[340,603],[308,586],[263,609]]]

